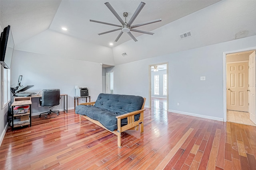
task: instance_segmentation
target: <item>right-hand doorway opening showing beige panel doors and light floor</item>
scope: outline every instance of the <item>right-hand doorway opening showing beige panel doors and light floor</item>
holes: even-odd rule
[[[226,54],[225,66],[226,121],[255,126],[255,51]]]

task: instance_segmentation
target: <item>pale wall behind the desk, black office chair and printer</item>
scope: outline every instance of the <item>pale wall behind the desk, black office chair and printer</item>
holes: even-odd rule
[[[102,92],[100,63],[15,50],[12,59],[11,87],[17,85],[19,75],[23,76],[22,85],[34,85],[25,92],[59,88],[60,93],[68,94],[69,109],[74,109],[75,85],[88,87],[89,95],[94,99]],[[32,113],[49,109],[38,107],[38,104],[38,98],[33,98]],[[62,102],[59,106],[53,107],[53,109],[62,108]]]

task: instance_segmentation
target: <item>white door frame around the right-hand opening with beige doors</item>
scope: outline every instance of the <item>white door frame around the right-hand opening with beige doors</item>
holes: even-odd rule
[[[222,55],[222,61],[223,61],[223,121],[227,121],[227,79],[226,79],[226,55],[227,54],[232,54],[232,53],[240,53],[240,52],[245,52],[245,51],[251,51],[251,50],[256,50],[256,47],[250,47],[247,49],[239,49],[239,50],[234,50],[234,51],[226,51],[223,52]]]

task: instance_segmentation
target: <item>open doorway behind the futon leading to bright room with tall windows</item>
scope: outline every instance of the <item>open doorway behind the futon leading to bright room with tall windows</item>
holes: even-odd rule
[[[149,66],[149,108],[168,111],[168,63]]]

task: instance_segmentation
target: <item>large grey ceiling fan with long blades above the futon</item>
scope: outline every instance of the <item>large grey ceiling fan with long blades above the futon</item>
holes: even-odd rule
[[[161,19],[158,19],[158,20],[152,20],[152,21],[148,21],[148,22],[144,22],[144,23],[139,23],[139,24],[136,24],[136,25],[132,25],[133,21],[136,19],[136,17],[138,16],[138,14],[140,13],[140,11],[142,10],[142,8],[144,7],[146,3],[144,2],[140,2],[140,5],[138,6],[138,8],[136,9],[136,11],[134,12],[134,14],[132,15],[132,18],[130,19],[130,21],[128,21],[128,23],[126,22],[126,17],[128,16],[128,13],[127,12],[124,12],[123,13],[123,16],[125,17],[125,21],[122,20],[122,18],[117,14],[117,12],[114,10],[114,8],[110,5],[109,2],[106,2],[105,5],[108,7],[108,9],[114,14],[114,16],[118,19],[118,21],[120,21],[120,23],[122,25],[116,25],[116,24],[113,24],[113,23],[107,23],[107,22],[102,22],[102,21],[96,21],[96,20],[90,20],[91,22],[96,22],[96,23],[103,23],[103,24],[106,24],[106,25],[112,25],[112,26],[116,26],[116,27],[120,27],[120,28],[117,28],[117,29],[112,29],[110,31],[106,31],[106,32],[103,32],[103,33],[98,33],[98,35],[102,35],[102,34],[106,34],[106,33],[111,33],[111,32],[114,32],[114,31],[118,31],[118,30],[121,30],[121,32],[119,33],[119,35],[116,37],[116,42],[118,41],[118,39],[121,37],[121,35],[123,33],[128,33],[128,35],[130,35],[130,37],[134,40],[134,41],[138,41],[130,31],[134,31],[134,32],[138,32],[138,33],[145,33],[145,34],[150,34],[150,35],[153,35],[154,33],[152,32],[148,32],[148,31],[141,31],[141,30],[138,30],[138,29],[134,29],[135,27],[140,27],[142,25],[147,25],[147,24],[150,24],[150,23],[155,23],[155,22],[159,22],[159,21],[162,21]]]

